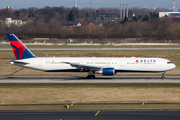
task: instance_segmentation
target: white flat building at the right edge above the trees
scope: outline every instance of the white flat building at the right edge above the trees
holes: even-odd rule
[[[180,12],[159,12],[159,17],[174,17],[174,18],[180,18]]]

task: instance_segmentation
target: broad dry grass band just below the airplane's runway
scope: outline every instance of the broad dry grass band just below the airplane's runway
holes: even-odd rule
[[[2,104],[179,103],[180,84],[0,84]]]

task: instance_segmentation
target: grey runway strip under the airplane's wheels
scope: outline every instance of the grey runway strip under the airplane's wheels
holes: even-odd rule
[[[180,77],[0,77],[0,83],[180,83]]]

